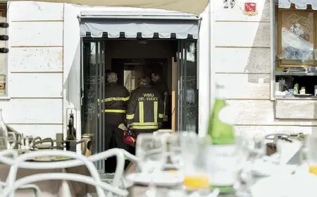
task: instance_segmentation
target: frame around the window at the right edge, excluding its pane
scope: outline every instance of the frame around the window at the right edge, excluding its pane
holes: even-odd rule
[[[272,1],[272,0],[271,0]],[[285,97],[277,97],[275,95],[275,80],[276,80],[276,76],[283,76],[280,75],[278,73],[280,73],[280,71],[278,71],[278,68],[282,68],[282,66],[280,66],[281,61],[278,58],[278,55],[281,54],[281,14],[282,11],[308,11],[308,12],[313,12],[313,64],[292,64],[292,65],[298,65],[298,66],[315,66],[317,68],[317,10],[313,10],[311,8],[311,5],[308,5],[306,9],[302,10],[302,9],[297,9],[295,8],[295,5],[292,4],[292,6],[290,8],[278,8],[278,3],[276,3],[273,0],[273,6],[271,7],[271,64],[273,64],[271,66],[272,69],[272,80],[271,80],[271,100],[276,100],[276,99],[285,99]],[[285,75],[285,76],[310,76],[310,75]],[[317,73],[314,73],[313,76],[317,77]],[[306,98],[301,98],[301,100],[306,100]]]

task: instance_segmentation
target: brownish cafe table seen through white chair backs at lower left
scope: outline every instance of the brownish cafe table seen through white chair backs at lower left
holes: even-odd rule
[[[0,164],[0,180],[6,181],[10,167],[5,164]],[[84,165],[78,167],[70,167],[66,169],[23,169],[19,168],[16,179],[30,176],[32,174],[40,173],[58,173],[67,172],[74,174],[88,175],[88,169]],[[69,191],[71,196],[87,196],[88,186],[75,181],[63,181],[63,180],[49,180],[38,181],[33,183],[39,187],[42,192],[42,197],[59,197],[65,196],[65,191]],[[15,192],[15,197],[32,197],[34,191],[31,189],[21,189]]]

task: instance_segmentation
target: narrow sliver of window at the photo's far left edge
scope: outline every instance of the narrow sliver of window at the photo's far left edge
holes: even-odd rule
[[[6,4],[0,4],[0,23],[6,23]],[[6,35],[6,28],[0,28],[0,35]],[[6,48],[6,41],[0,41],[0,48]],[[6,95],[6,54],[0,53],[0,95]]]

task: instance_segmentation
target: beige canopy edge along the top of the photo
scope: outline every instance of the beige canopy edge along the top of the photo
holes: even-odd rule
[[[20,0],[11,0],[20,1]],[[26,0],[32,1],[32,0]],[[80,4],[87,6],[120,6],[134,8],[156,8],[168,11],[201,14],[209,0],[37,0],[55,3]]]

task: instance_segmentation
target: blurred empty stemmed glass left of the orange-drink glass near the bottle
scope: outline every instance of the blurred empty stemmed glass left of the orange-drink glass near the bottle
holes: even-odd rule
[[[152,133],[140,133],[137,136],[136,156],[142,173],[147,173],[150,177],[146,196],[156,196],[154,177],[166,164],[166,138]]]

